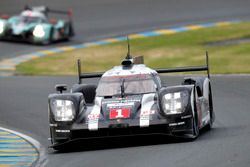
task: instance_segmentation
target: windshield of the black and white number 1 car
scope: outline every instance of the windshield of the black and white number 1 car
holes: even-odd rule
[[[156,92],[156,85],[150,74],[102,77],[96,90],[97,96],[152,92]]]

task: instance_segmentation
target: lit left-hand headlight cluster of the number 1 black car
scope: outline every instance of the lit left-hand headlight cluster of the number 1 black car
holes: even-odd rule
[[[54,100],[52,112],[56,121],[72,121],[75,117],[74,103],[70,100]]]

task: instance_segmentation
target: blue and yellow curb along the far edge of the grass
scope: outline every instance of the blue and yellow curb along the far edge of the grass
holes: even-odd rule
[[[173,28],[168,28],[168,29],[145,31],[145,32],[140,32],[136,34],[129,34],[128,36],[130,37],[130,39],[138,39],[138,38],[147,38],[147,37],[160,36],[160,35],[172,35],[172,34],[176,34],[180,32],[199,30],[199,29],[204,29],[204,28],[209,28],[209,27],[223,27],[223,26],[227,26],[227,25],[231,25],[231,24],[235,24],[239,22],[241,21],[232,20],[232,21],[187,25],[187,26],[182,26],[182,27],[173,27]],[[82,43],[82,44],[77,44],[77,45],[69,45],[69,46],[64,46],[64,47],[56,47],[52,49],[41,50],[38,52],[20,55],[14,58],[3,59],[2,61],[0,61],[0,71],[6,71],[6,72],[14,71],[15,67],[20,63],[26,62],[28,60],[36,59],[39,57],[52,55],[55,53],[62,53],[62,52],[72,51],[75,49],[92,47],[92,46],[106,45],[106,44],[111,44],[111,43],[121,42],[121,41],[126,41],[126,40],[127,40],[126,36],[107,38],[107,39],[103,39],[99,41]]]

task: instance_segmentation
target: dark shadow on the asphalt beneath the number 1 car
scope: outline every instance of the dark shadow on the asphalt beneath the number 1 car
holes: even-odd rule
[[[201,137],[207,130],[200,132]],[[199,140],[196,139],[196,140]],[[114,138],[98,138],[89,140],[74,140],[65,143],[54,149],[50,149],[51,154],[63,154],[83,151],[97,151],[107,149],[119,149],[129,147],[152,146],[162,144],[187,143],[195,141],[194,139],[186,139],[173,137],[168,135],[144,135],[144,136],[129,136],[129,137],[114,137]]]

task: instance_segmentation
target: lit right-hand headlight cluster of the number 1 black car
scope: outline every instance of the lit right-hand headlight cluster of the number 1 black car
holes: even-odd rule
[[[162,108],[165,114],[181,114],[188,103],[187,92],[167,93],[162,97]]]

